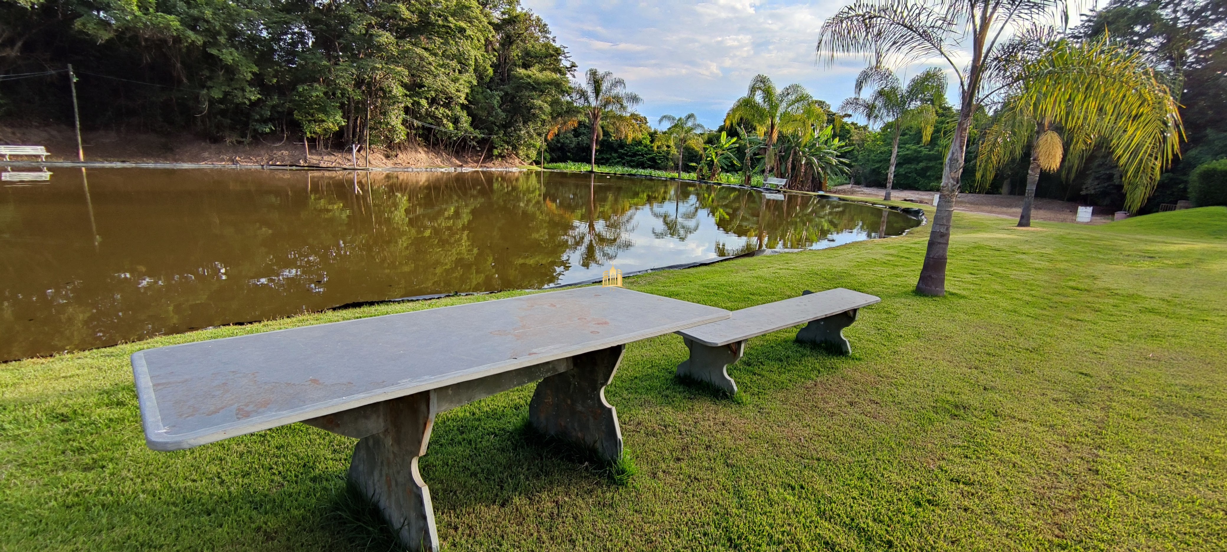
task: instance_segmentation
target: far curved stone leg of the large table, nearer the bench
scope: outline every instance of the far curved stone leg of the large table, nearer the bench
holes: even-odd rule
[[[591,449],[606,461],[622,458],[617,411],[605,400],[625,346],[571,357],[571,369],[537,384],[529,402],[529,421],[546,435]]]

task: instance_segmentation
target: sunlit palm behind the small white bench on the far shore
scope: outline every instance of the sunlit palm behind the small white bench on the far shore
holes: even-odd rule
[[[814,97],[801,85],[788,85],[777,90],[767,75],[757,75],[750,80],[746,96],[737,98],[724,115],[724,126],[731,128],[746,123],[763,137],[764,162],[763,175],[771,175],[774,163],[774,146],[782,126],[802,118],[812,118],[816,108]],[[745,184],[750,184],[750,167],[745,167]]]

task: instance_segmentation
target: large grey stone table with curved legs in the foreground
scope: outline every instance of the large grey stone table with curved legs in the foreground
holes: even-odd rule
[[[747,309],[748,310],[748,309]],[[541,380],[533,426],[622,455],[605,401],[626,343],[730,313],[584,287],[150,348],[133,355],[146,443],[178,450],[303,422],[360,439],[348,477],[401,543],[437,551],[417,470],[434,415]]]

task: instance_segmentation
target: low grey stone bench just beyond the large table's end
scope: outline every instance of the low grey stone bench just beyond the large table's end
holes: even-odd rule
[[[839,355],[852,355],[843,329],[856,321],[856,312],[882,299],[842,287],[801,297],[734,310],[733,316],[681,330],[690,358],[677,364],[677,375],[707,381],[734,395],[737,384],[728,367],[745,353],[746,341],[775,330],[809,323],[796,332],[796,341],[825,346]]]

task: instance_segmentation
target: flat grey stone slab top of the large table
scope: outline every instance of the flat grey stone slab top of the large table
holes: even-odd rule
[[[582,287],[150,348],[131,361],[146,442],[178,450],[726,318]]]

